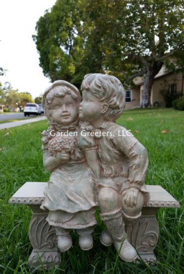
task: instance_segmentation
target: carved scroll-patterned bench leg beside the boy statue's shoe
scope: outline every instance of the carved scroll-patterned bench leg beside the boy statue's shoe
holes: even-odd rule
[[[145,263],[154,264],[154,254],[158,238],[159,225],[156,213],[159,208],[143,208],[141,217],[127,226],[127,236]]]

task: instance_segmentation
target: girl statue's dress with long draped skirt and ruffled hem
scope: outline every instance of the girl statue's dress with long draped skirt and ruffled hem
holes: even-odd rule
[[[58,138],[50,135],[52,130],[62,133],[65,131],[79,133],[78,127],[48,128],[42,133],[43,152],[48,151],[49,143],[54,138]],[[51,134],[54,135],[54,132]],[[40,208],[49,210],[46,219],[49,225],[65,229],[83,229],[97,223],[95,181],[84,154],[78,148],[78,137],[73,134],[71,138],[75,141],[71,159],[52,171],[44,191],[45,200]]]

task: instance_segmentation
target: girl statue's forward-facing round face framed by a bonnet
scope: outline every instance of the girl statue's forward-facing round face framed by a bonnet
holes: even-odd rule
[[[67,126],[78,118],[78,106],[70,94],[64,97],[54,97],[49,104],[52,122]]]

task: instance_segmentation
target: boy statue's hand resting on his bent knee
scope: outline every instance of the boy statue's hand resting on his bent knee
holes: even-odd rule
[[[138,195],[139,189],[136,187],[130,187],[122,192],[121,198],[124,200],[127,207],[133,207],[137,205]]]

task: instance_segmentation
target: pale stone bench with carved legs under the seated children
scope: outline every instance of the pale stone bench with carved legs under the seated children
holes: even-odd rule
[[[30,267],[40,265],[45,268],[59,266],[60,252],[57,248],[55,229],[45,220],[48,211],[40,209],[44,201],[43,191],[46,182],[26,182],[9,199],[10,204],[25,204],[32,210],[32,219],[29,224],[29,240],[33,247],[28,259]],[[147,185],[150,192],[150,201],[143,207],[141,217],[127,227],[129,241],[136,248],[141,259],[154,263],[156,256],[154,249],[159,238],[159,225],[156,213],[161,207],[180,207],[179,202],[159,185]],[[99,242],[100,243],[100,242]]]

